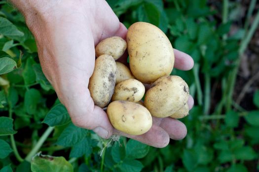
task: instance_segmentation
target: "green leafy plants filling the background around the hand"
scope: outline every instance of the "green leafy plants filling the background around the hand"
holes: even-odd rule
[[[193,57],[192,70],[172,73],[195,99],[182,120],[186,138],[159,149],[75,127],[41,71],[22,15],[1,0],[0,172],[259,171],[257,0],[108,2],[125,26],[152,23]],[[31,160],[39,151],[50,156]]]

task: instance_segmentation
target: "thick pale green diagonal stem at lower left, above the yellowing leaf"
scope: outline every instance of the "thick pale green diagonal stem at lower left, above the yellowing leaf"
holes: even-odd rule
[[[32,157],[37,153],[37,151],[40,149],[40,147],[45,142],[45,140],[48,138],[48,136],[53,131],[53,129],[54,129],[54,127],[50,127],[50,126],[46,129],[46,131],[43,133],[43,135],[39,138],[39,140],[36,143],[35,147],[26,156],[26,158],[25,158],[26,161],[31,162]]]

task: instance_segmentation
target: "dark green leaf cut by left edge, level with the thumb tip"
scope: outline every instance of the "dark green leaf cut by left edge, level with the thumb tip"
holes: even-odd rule
[[[15,134],[13,130],[13,119],[9,117],[0,117],[0,136]]]

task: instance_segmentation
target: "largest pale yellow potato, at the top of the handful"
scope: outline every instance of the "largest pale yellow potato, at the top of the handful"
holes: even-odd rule
[[[142,83],[150,84],[170,75],[174,67],[173,47],[162,30],[137,22],[127,32],[130,70]]]

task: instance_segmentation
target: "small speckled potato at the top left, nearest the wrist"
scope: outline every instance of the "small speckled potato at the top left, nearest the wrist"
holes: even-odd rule
[[[95,47],[95,55],[99,57],[101,55],[110,55],[115,60],[121,57],[127,48],[127,43],[124,39],[118,36],[106,38],[99,42]]]

